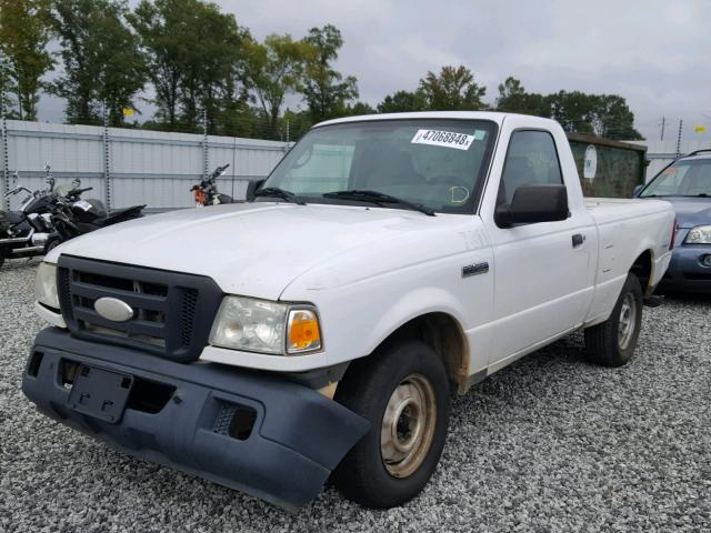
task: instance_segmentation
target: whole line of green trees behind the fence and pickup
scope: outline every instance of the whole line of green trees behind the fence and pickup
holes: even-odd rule
[[[69,123],[106,118],[167,131],[204,124],[213,134],[273,139],[289,124],[294,139],[338,117],[491,109],[550,117],[571,132],[641,139],[620,95],[538,94],[508,78],[487,104],[487,89],[464,66],[427,72],[413,90],[373,108],[358,100],[356,77],[334,69],[343,39],[332,24],[260,41],[202,0],[141,0],[133,10],[124,0],[0,0],[0,103],[9,118],[37,120],[47,92],[64,100]],[[144,91],[156,112],[139,124],[131,115]],[[304,109],[286,109],[294,95]]]

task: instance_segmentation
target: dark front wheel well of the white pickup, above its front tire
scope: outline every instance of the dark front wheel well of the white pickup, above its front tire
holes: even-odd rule
[[[469,388],[469,343],[459,322],[447,313],[428,313],[402,324],[388,336],[419,339],[427,342],[442,359],[450,382],[460,394]]]

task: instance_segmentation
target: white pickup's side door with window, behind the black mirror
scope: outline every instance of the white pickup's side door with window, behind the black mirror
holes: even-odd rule
[[[570,154],[564,134],[517,128],[515,120],[507,118],[509,148],[499,183],[488,188],[482,209],[494,258],[494,342],[489,364],[498,366],[582,322],[592,298],[591,251],[597,242],[584,207],[570,203],[582,195],[563,180],[559,153]],[[577,172],[572,175],[578,179]],[[517,188],[553,183],[568,189],[568,219],[510,228],[497,223],[495,207],[510,203]]]

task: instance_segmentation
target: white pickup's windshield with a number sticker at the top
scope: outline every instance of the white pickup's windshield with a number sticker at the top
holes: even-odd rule
[[[333,198],[333,192],[377,191],[433,211],[472,213],[495,131],[490,121],[437,119],[316,128],[284,157],[262,189],[278,188],[307,203],[342,204],[368,202]]]

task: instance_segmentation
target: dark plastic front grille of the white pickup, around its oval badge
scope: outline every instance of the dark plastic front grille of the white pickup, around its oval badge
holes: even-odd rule
[[[60,255],[62,315],[74,336],[193,361],[208,343],[222,292],[212,279],[166,270]],[[100,298],[133,310],[126,322],[100,315]]]

